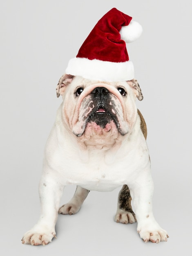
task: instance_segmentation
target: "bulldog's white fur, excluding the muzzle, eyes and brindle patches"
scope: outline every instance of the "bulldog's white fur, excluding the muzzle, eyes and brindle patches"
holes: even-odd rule
[[[80,97],[74,97],[77,86],[85,87]],[[73,116],[78,113],[82,99],[99,86],[108,86],[116,94],[116,106],[123,109],[129,132],[107,149],[97,149],[92,144],[84,145],[71,131]],[[118,86],[126,87],[127,97],[118,92]],[[63,188],[69,184],[78,185],[76,195],[69,204],[60,208],[60,213],[76,213],[87,196],[82,189],[112,191],[127,184],[130,189],[138,221],[138,233],[143,240],[160,242],[167,240],[167,233],[154,219],[152,213],[153,182],[150,172],[150,159],[147,144],[137,116],[135,94],[128,83],[98,83],[76,77],[63,94],[63,103],[57,112],[56,122],[47,140],[43,162],[42,177],[39,185],[41,215],[38,223],[29,230],[22,243],[45,245],[55,237],[55,224],[58,216]],[[70,110],[65,108],[70,104]],[[77,112],[77,113],[76,113]],[[68,116],[67,116],[68,115]],[[129,120],[128,120],[129,119]],[[83,136],[83,135],[82,135]],[[92,138],[94,140],[94,138]],[[109,143],[109,139],[107,139]],[[105,141],[103,142],[105,144]],[[84,145],[84,146],[82,146]],[[78,201],[78,202],[77,202]],[[117,211],[116,219],[126,223],[134,222],[134,217],[126,212]]]

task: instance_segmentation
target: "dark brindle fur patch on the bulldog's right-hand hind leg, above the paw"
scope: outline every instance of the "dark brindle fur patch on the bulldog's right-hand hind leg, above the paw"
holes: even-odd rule
[[[118,197],[119,209],[128,211],[128,212],[132,213],[133,215],[135,215],[134,211],[132,210],[131,200],[132,200],[132,198],[131,198],[128,186],[123,185],[123,187],[119,193],[119,197]]]

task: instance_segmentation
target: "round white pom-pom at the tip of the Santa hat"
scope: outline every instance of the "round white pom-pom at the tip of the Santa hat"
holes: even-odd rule
[[[136,21],[131,21],[128,26],[123,26],[119,33],[121,34],[121,39],[125,43],[132,43],[134,40],[141,36],[143,29],[141,25]]]

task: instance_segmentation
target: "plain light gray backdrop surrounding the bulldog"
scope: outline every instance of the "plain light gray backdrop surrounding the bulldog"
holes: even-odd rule
[[[58,239],[22,245],[39,216],[38,181],[61,98],[56,85],[70,58],[112,7],[143,34],[127,45],[144,99],[155,183],[154,214],[167,243],[143,243],[136,224],[113,221],[119,189],[91,192],[74,216],[59,216]],[[189,0],[6,0],[0,4],[0,251],[2,255],[178,255],[191,245],[191,31]],[[74,159],[75,161],[75,159]],[[61,203],[75,187],[67,187]]]

